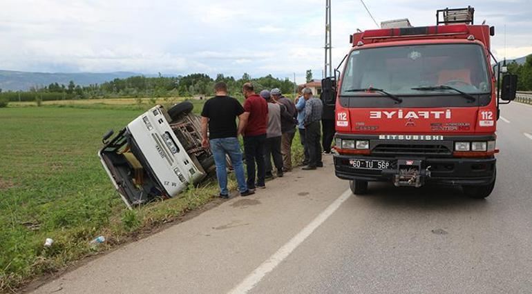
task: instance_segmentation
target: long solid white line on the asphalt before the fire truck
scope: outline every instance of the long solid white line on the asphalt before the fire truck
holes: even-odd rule
[[[235,286],[229,293],[247,293],[252,288],[260,282],[260,280],[265,277],[269,272],[273,271],[276,266],[278,266],[283,260],[292,253],[307,237],[309,237],[316,228],[318,228],[323,222],[327,220],[335,211],[338,209],[345,200],[347,200],[352,195],[351,190],[346,190],[340,197],[338,197],[330,206],[325,208],[322,213],[320,213],[315,219],[307,224],[303,230],[301,230],[297,235],[292,237],[287,244],[283,245],[281,248],[270,256],[263,264],[260,264],[258,268],[250,273],[245,279]]]

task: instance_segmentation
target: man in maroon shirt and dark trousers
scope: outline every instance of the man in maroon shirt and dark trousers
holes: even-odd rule
[[[246,98],[244,116],[247,124],[244,130],[244,153],[247,165],[247,187],[249,189],[266,188],[264,144],[268,126],[268,104],[265,99],[255,93],[251,83],[242,86],[242,94]],[[257,182],[255,182],[255,164]]]

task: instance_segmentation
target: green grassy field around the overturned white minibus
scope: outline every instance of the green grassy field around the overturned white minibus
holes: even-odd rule
[[[202,102],[193,101],[194,112]],[[171,222],[218,193],[210,180],[178,198],[127,210],[97,150],[108,129],[120,130],[150,106],[134,99],[64,106],[0,108],[0,292]],[[300,161],[297,137],[293,148]],[[108,241],[91,246],[99,235]],[[43,246],[47,237],[55,240],[50,248]]]

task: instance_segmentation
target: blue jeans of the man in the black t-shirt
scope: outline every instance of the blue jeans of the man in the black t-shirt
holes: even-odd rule
[[[225,164],[225,155],[229,155],[231,164],[235,169],[236,182],[238,182],[238,190],[240,193],[247,191],[246,178],[244,175],[244,165],[242,162],[242,151],[240,151],[240,143],[236,137],[211,139],[211,150],[216,164],[216,177],[218,177],[218,186],[220,186],[220,194],[227,195],[227,166]]]

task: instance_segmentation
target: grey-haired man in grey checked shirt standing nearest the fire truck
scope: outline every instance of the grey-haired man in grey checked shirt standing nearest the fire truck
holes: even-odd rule
[[[309,164],[303,170],[315,170],[316,167],[322,167],[321,161],[321,130],[320,121],[323,113],[323,103],[320,99],[312,96],[310,88],[303,89],[303,98],[305,99],[305,143],[308,144]]]

